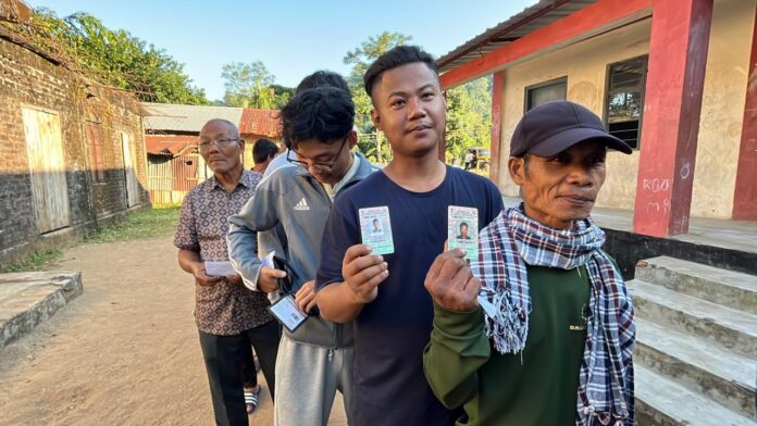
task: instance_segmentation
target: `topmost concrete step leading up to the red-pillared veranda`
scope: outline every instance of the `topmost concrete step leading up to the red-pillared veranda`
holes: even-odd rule
[[[754,275],[658,256],[640,261],[635,278],[757,315],[757,276]]]

